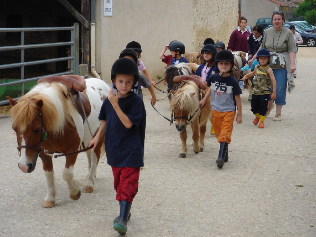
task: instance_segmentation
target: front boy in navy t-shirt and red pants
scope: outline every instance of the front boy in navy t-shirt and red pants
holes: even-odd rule
[[[138,80],[137,64],[130,58],[119,58],[112,66],[111,79],[117,88],[104,100],[99,119],[101,126],[89,146],[95,149],[100,135],[105,132],[107,163],[112,167],[119,216],[113,228],[126,234],[131,217],[131,204],[138,191],[140,167],[144,166],[146,110],[142,98],[132,92]]]

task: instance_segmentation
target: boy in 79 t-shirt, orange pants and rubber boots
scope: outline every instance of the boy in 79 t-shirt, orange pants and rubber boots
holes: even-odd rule
[[[207,86],[209,90],[199,102],[203,107],[205,101],[211,96],[212,120],[215,130],[215,137],[220,143],[217,167],[222,168],[224,162],[228,161],[228,144],[231,142],[233,123],[237,107],[237,124],[242,123],[241,99],[242,94],[236,78],[229,73],[234,66],[232,52],[224,49],[219,51],[215,57],[215,65],[219,73],[210,76]]]

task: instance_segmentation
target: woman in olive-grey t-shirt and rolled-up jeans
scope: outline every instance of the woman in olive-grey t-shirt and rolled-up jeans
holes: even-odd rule
[[[270,67],[276,78],[276,115],[273,121],[281,121],[282,106],[286,104],[286,88],[291,92],[295,87],[293,73],[295,71],[295,52],[297,52],[292,32],[282,26],[285,20],[282,11],[274,11],[272,23],[274,27],[267,29],[260,48],[271,53]],[[248,61],[250,66],[257,55]],[[288,83],[287,83],[288,82]],[[275,88],[272,88],[274,90]],[[269,109],[270,108],[270,109]],[[268,112],[273,108],[272,100],[268,104]]]

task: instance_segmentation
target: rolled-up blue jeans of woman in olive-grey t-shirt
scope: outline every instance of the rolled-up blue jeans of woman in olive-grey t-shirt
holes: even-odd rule
[[[272,69],[274,77],[276,78],[276,105],[285,105],[286,87],[288,85],[286,68]],[[272,89],[273,91],[273,86]]]

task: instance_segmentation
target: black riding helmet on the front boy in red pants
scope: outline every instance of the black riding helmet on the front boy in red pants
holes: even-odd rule
[[[119,58],[114,62],[111,69],[111,80],[115,78],[116,74],[131,74],[134,76],[134,85],[138,81],[138,67],[131,58]]]

